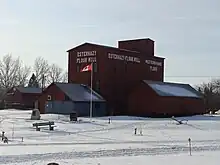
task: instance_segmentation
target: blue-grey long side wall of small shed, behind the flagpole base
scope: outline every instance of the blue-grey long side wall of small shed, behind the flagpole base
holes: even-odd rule
[[[90,115],[90,103],[89,102],[75,102],[75,110],[79,116]],[[106,103],[94,102],[93,103],[93,117],[106,115]]]

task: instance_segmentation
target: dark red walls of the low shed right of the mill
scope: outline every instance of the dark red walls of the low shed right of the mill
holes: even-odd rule
[[[139,116],[181,116],[203,114],[203,99],[157,95],[147,84],[141,83],[128,98],[129,114]]]

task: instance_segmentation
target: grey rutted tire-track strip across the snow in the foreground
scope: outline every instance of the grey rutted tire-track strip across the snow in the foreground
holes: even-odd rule
[[[152,156],[152,155],[171,155],[188,152],[188,147],[173,146],[164,148],[135,148],[135,149],[116,149],[116,150],[99,150],[99,151],[72,151],[72,152],[58,152],[46,154],[27,154],[27,155],[10,155],[0,156],[1,163],[22,163],[34,162],[39,160],[51,159],[73,159],[73,158],[99,158],[99,157],[121,157],[121,156]],[[218,146],[200,146],[192,147],[192,152],[203,151],[219,151]]]

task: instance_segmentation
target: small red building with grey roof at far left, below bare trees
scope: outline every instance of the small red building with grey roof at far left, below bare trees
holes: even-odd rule
[[[32,109],[41,93],[41,88],[13,87],[3,97],[5,108]]]

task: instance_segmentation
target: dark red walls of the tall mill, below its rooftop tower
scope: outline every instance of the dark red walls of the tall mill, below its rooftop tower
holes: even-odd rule
[[[152,44],[148,52],[152,53],[151,49]],[[77,65],[82,68],[89,64],[76,64],[77,52],[84,51],[96,51],[98,71],[93,73],[93,88],[96,86],[96,82],[99,81],[100,91],[98,92],[107,100],[108,107],[119,114],[127,113],[127,96],[138,81],[143,79],[163,81],[163,58],[117,48],[84,44],[69,51],[69,82],[90,86],[90,72],[77,72]],[[109,59],[109,53],[138,58],[140,63]],[[157,71],[153,72],[150,70],[149,64],[145,63],[146,60],[160,62],[161,66],[158,66]]]

